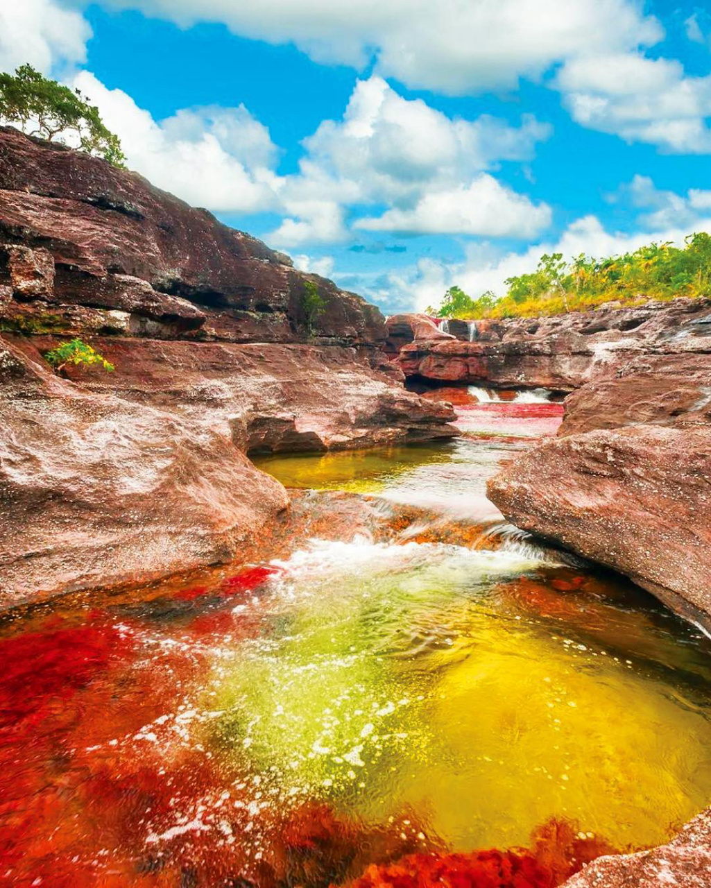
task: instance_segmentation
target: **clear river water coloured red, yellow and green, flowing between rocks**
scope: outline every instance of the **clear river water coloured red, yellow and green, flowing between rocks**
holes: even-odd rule
[[[486,501],[560,409],[263,457],[322,533],[4,614],[0,884],[545,888],[698,813],[711,643]]]

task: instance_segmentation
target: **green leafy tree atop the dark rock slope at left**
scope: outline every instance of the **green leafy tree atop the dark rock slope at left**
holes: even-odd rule
[[[101,121],[99,108],[31,65],[21,65],[14,75],[0,74],[0,118],[19,124],[29,136],[78,143],[87,154],[125,168],[121,142]]]

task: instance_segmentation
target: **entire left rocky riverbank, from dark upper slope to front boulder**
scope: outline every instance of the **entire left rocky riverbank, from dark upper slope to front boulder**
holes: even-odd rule
[[[115,371],[55,375],[72,337]],[[288,507],[247,452],[456,434],[386,337],[206,210],[0,129],[0,607],[234,558]]]

